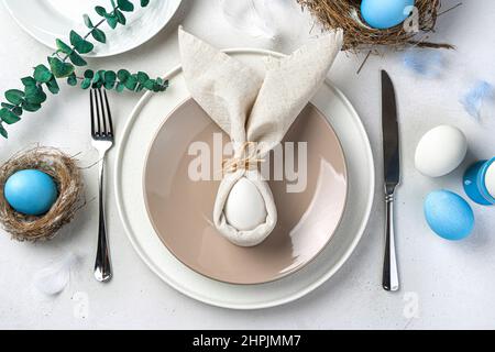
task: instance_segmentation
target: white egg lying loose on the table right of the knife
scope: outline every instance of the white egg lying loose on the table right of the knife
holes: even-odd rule
[[[451,125],[427,132],[416,148],[416,168],[425,176],[440,177],[461,165],[468,153],[464,133]]]

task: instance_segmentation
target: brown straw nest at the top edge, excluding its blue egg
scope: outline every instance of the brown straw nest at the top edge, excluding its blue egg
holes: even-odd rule
[[[297,0],[316,16],[326,30],[342,29],[346,51],[373,50],[388,46],[403,50],[408,46],[452,48],[449,44],[428,42],[435,31],[440,0],[416,0],[418,28],[399,24],[388,30],[372,29],[361,19],[361,0]],[[413,21],[407,21],[409,23]]]

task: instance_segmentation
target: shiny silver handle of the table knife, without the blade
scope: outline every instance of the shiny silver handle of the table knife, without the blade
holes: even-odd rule
[[[394,231],[394,193],[385,196],[385,258],[383,264],[383,288],[389,292],[399,289],[397,257]]]

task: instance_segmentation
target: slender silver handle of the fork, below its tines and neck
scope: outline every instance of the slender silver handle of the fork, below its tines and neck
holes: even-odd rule
[[[98,251],[95,262],[95,277],[100,283],[106,283],[112,277],[110,264],[110,251],[107,239],[107,226],[105,220],[105,161],[106,153],[100,155],[99,162],[99,229],[98,229]]]

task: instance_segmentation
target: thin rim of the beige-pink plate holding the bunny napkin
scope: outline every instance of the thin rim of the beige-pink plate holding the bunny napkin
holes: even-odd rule
[[[142,179],[142,185],[141,187],[143,188],[143,194],[146,195],[146,175],[147,175],[147,165],[148,165],[148,160],[150,160],[150,154],[152,152],[152,147],[154,142],[156,141],[156,139],[158,138],[158,134],[162,132],[162,130],[165,128],[165,124],[167,123],[168,119],[185,103],[187,103],[188,101],[194,100],[193,97],[188,97],[185,100],[180,101],[165,118],[164,121],[161,122],[157,131],[155,132],[155,134],[153,135],[153,140],[151,142],[151,144],[147,147],[146,151],[146,157],[145,157],[145,163],[144,163],[144,170],[143,170],[143,179]],[[315,106],[311,101],[308,102],[308,105],[310,105],[320,116],[323,117],[324,119],[324,123],[328,124],[331,133],[334,134],[336,140],[337,140],[337,145],[340,150],[340,154],[342,155],[342,161],[343,161],[343,168],[344,168],[344,178],[345,178],[345,195],[343,197],[343,206],[341,209],[341,213],[339,216],[339,220],[337,221],[337,226],[333,229],[333,231],[331,232],[331,234],[328,235],[327,241],[324,242],[324,244],[318,250],[318,252],[311,256],[311,258],[309,261],[307,261],[306,263],[297,266],[296,268],[288,271],[287,273],[284,273],[275,278],[265,280],[265,282],[258,282],[258,283],[234,283],[234,282],[228,282],[228,280],[222,280],[220,278],[213,277],[213,276],[209,276],[205,273],[200,273],[199,271],[197,271],[196,268],[194,268],[193,266],[190,266],[189,264],[187,264],[184,260],[182,260],[175,252],[173,249],[170,249],[166,243],[165,240],[158,234],[158,230],[157,227],[155,224],[155,222],[152,220],[152,216],[151,216],[151,210],[150,210],[150,201],[148,198],[144,198],[144,205],[146,208],[146,212],[147,212],[147,217],[150,218],[150,222],[153,226],[153,229],[156,232],[156,235],[160,238],[161,242],[167,248],[168,252],[170,252],[172,255],[174,255],[174,257],[179,261],[183,265],[186,265],[188,268],[190,268],[191,271],[198,273],[199,275],[202,275],[209,279],[222,283],[222,284],[228,284],[228,285],[242,285],[242,286],[252,286],[252,285],[263,285],[263,284],[270,284],[270,283],[274,283],[277,282],[279,279],[283,279],[289,275],[293,275],[299,271],[301,271],[302,268],[305,268],[307,265],[311,264],[317,257],[318,255],[320,255],[324,249],[330,244],[330,242],[333,239],[333,235],[336,234],[337,230],[339,229],[340,224],[342,223],[342,219],[344,217],[345,213],[345,209],[349,205],[349,164],[348,164],[348,158],[345,156],[345,152],[343,150],[343,145],[342,145],[342,141],[340,140],[339,135],[337,134],[336,130],[333,129],[333,127],[330,124],[330,122],[328,121],[328,119],[324,117],[324,113],[317,107]],[[219,234],[220,235],[220,234]]]

